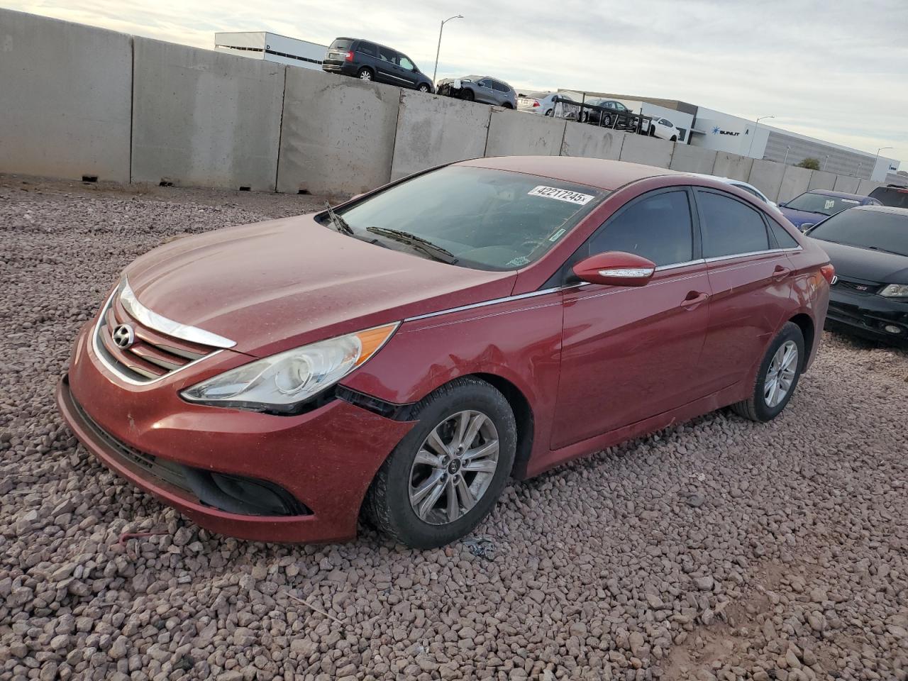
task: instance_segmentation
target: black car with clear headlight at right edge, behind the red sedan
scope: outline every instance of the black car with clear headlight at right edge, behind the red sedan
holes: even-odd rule
[[[859,206],[807,234],[835,267],[826,320],[908,347],[908,209]]]

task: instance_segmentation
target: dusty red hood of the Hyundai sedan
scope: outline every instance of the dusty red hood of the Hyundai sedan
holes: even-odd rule
[[[125,274],[144,306],[257,357],[507,296],[516,280],[382,248],[306,215],[185,237]]]

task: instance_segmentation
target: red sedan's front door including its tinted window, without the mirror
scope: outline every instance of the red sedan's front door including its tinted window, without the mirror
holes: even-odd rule
[[[552,449],[706,394],[698,375],[711,291],[691,209],[687,189],[648,192],[610,217],[575,255],[631,252],[657,269],[640,287],[581,284],[563,292]]]

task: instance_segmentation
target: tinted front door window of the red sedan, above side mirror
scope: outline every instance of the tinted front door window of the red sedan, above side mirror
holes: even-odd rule
[[[694,259],[694,228],[686,191],[647,196],[610,218],[589,242],[589,255],[635,253],[672,265]]]

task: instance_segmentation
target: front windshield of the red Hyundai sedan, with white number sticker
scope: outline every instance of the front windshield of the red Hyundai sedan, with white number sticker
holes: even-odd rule
[[[451,165],[337,212],[361,239],[378,235],[383,245],[400,248],[400,239],[381,232],[408,232],[448,251],[460,266],[516,270],[558,243],[605,195],[538,175]]]

